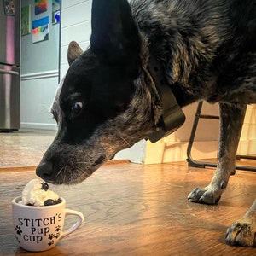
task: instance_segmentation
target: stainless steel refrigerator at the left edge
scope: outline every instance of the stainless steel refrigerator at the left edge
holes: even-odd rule
[[[0,0],[0,131],[20,129],[20,0]]]

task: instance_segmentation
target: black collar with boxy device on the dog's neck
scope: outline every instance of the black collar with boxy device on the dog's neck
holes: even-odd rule
[[[152,55],[150,55],[148,59],[148,72],[154,80],[155,87],[160,94],[162,102],[161,107],[163,109],[163,114],[158,124],[154,127],[154,133],[148,136],[150,142],[155,143],[162,137],[170,135],[183,125],[185,115],[177,104],[170,86],[166,83],[166,74],[164,73],[160,61],[157,61]]]

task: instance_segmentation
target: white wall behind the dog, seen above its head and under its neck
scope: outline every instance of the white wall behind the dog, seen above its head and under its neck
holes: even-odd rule
[[[67,47],[70,41],[77,41],[82,49],[86,49],[90,42],[90,9],[91,0],[62,1],[61,23],[61,77],[68,69]],[[130,159],[134,162],[147,164],[185,160],[187,146],[197,103],[184,108],[186,121],[175,133],[158,143],[141,141],[132,148],[123,150],[116,155],[119,159]],[[256,121],[255,105],[248,107],[247,118],[242,131],[239,154],[256,154]],[[218,104],[204,103],[202,113],[218,115]],[[195,159],[213,158],[218,148],[218,120],[201,119],[196,132],[192,155]]]

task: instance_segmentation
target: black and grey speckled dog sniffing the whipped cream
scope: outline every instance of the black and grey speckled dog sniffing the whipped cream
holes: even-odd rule
[[[235,170],[247,104],[256,103],[256,1],[94,0],[91,14],[90,48],[69,45],[70,67],[51,108],[58,131],[37,175],[79,183],[119,150],[166,134],[165,84],[179,108],[219,102],[218,166],[211,183],[189,195],[218,203]],[[256,201],[227,230],[228,244],[256,246],[255,212]]]

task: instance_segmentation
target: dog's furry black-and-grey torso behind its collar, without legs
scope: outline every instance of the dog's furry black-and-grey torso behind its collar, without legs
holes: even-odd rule
[[[198,99],[232,102],[237,96],[223,94],[241,86],[238,77],[256,82],[256,68],[237,67],[256,49],[256,1],[133,0],[131,9],[180,106]]]

